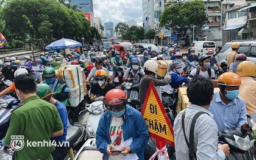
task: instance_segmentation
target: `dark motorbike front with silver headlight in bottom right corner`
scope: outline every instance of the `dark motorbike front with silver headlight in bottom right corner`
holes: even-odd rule
[[[230,129],[218,133],[221,144],[228,144],[230,154],[228,159],[256,159],[252,147],[254,138],[251,133],[240,128]]]

